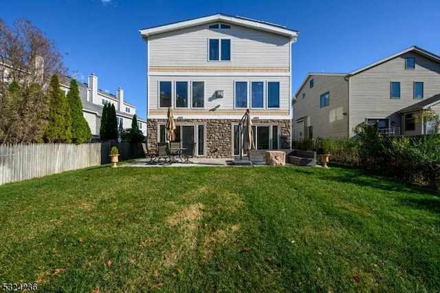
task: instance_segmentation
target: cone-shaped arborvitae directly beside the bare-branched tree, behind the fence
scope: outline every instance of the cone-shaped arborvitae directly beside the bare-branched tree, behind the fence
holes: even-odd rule
[[[60,88],[58,76],[54,74],[50,80],[49,89],[50,109],[46,131],[45,142],[72,142],[71,124],[67,99]]]

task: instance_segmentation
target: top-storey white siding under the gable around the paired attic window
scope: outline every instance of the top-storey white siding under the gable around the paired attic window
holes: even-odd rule
[[[208,61],[208,39],[230,39],[231,61]],[[289,38],[238,25],[229,30],[197,25],[151,36],[148,53],[148,66],[290,67]]]

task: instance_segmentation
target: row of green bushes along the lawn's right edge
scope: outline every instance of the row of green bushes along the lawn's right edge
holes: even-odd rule
[[[326,149],[331,154],[332,162],[362,166],[407,182],[440,189],[439,134],[382,136],[375,125],[364,122],[353,130],[356,138],[316,138],[292,142],[292,146],[317,153]]]

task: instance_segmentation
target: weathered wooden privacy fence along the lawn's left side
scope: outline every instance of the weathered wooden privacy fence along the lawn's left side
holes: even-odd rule
[[[101,144],[1,144],[0,185],[101,164]]]

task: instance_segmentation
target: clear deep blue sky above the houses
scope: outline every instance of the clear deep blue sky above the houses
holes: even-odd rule
[[[440,55],[439,0],[0,0],[12,26],[25,18],[64,54],[80,82],[98,87],[146,118],[146,43],[138,30],[217,12],[300,32],[293,45],[292,94],[309,72],[351,72],[417,45]]]

